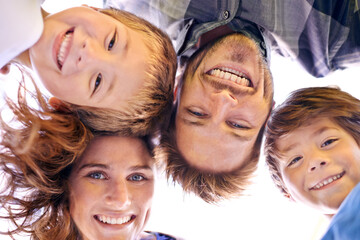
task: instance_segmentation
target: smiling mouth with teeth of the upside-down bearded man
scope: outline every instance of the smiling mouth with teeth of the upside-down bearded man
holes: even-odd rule
[[[216,67],[207,71],[206,74],[216,78],[231,81],[243,87],[253,87],[251,79],[245,73],[233,68]]]

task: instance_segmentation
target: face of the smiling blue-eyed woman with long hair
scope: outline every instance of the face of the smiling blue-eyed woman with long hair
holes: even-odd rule
[[[139,139],[97,137],[75,164],[69,191],[84,239],[136,239],[150,214],[154,161]]]

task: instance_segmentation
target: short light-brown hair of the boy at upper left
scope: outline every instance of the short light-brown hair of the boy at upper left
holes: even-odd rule
[[[119,132],[124,136],[148,134],[171,112],[176,72],[174,48],[165,33],[144,19],[121,10],[100,11],[145,36],[145,44],[151,53],[145,86],[123,111],[75,104],[69,104],[70,108],[93,131]]]

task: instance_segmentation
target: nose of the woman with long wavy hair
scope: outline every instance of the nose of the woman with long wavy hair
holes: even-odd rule
[[[114,210],[124,209],[131,203],[129,190],[125,181],[116,181],[110,184],[105,197],[105,204],[114,208]]]

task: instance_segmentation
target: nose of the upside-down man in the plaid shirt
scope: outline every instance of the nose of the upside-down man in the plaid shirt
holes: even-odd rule
[[[231,108],[238,105],[238,99],[228,90],[221,90],[212,93],[212,102],[214,106],[214,121],[222,121],[225,114],[231,110]]]

